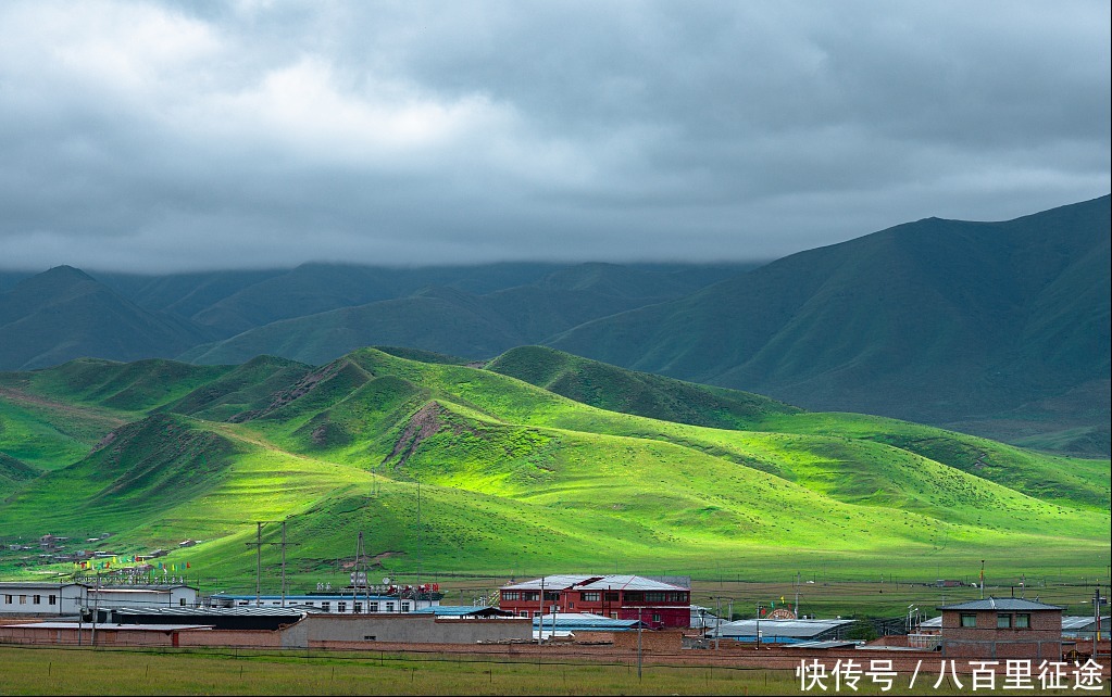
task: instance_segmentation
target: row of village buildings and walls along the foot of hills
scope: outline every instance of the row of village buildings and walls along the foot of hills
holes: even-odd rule
[[[1100,592],[1089,616],[989,595],[915,607],[863,634],[860,620],[800,616],[790,604],[723,617],[722,608],[692,603],[683,576],[548,575],[507,583],[477,605],[447,604],[438,584],[377,583],[365,572],[350,580],[277,595],[201,595],[185,578],[123,574],[0,582],[0,644],[539,653],[794,669],[801,687],[847,665],[892,675],[941,666],[959,681],[992,669],[1044,688],[1104,685],[1110,675]]]

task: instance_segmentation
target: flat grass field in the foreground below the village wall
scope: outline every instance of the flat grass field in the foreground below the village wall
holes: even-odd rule
[[[4,695],[798,695],[791,669],[464,654],[122,650],[0,647]],[[931,676],[933,678],[935,676]],[[945,683],[907,690],[868,678],[847,694],[971,694]],[[833,690],[831,684],[830,690]],[[980,690],[982,694],[984,690]]]

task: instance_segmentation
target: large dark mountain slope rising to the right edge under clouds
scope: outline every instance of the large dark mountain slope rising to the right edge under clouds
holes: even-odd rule
[[[1109,196],[999,223],[927,219],[547,343],[808,408],[981,432],[1009,411],[1030,433],[1084,424],[1106,452],[1109,229]]]

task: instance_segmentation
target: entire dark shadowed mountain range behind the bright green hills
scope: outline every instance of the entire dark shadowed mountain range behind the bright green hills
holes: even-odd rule
[[[0,274],[0,368],[79,356],[320,365],[548,345],[808,410],[1110,452],[1110,198],[926,219],[765,264]]]

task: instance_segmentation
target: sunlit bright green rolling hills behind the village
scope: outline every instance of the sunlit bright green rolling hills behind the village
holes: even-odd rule
[[[199,539],[170,560],[241,588],[255,522],[279,519],[302,584],[341,582],[359,532],[391,574],[698,576],[728,559],[759,578],[818,555],[932,577],[972,559],[1019,574],[1103,568],[1108,557],[1108,461],[805,413],[538,347],[490,370],[409,355],[0,374],[0,424],[43,434],[0,430],[0,452],[41,473],[4,469],[22,474],[6,484],[2,535],[109,531],[120,554]],[[264,558],[272,573],[277,549]]]

